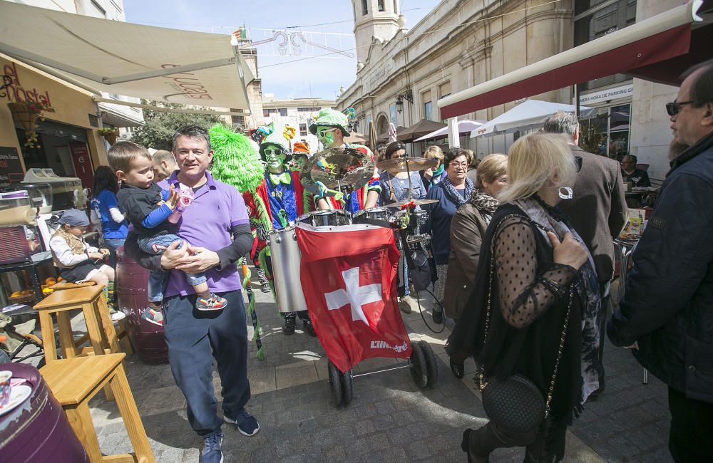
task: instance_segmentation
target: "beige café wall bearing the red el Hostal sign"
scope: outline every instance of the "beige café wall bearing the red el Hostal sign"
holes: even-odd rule
[[[26,97],[23,90],[31,93],[36,92],[43,98],[48,95],[49,103],[55,109],[54,113],[46,113],[46,120],[86,129],[93,166],[96,168],[98,165],[107,164],[103,137],[89,125],[89,115],[96,115],[97,112],[96,103],[93,102],[89,93],[61,83],[41,71],[33,71],[6,56],[0,56],[0,69],[4,71],[4,74],[16,72],[16,78],[21,84],[16,85],[16,80],[14,85],[3,90],[7,95],[0,99],[3,103],[0,104],[0,146],[15,147],[18,152],[21,152],[14,121],[7,103],[16,101],[16,95],[19,95],[21,101],[36,98],[34,96]]]

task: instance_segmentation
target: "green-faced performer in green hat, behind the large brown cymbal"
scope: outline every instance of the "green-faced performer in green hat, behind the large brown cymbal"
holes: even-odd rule
[[[356,143],[344,142],[344,137],[349,137],[347,115],[337,110],[329,108],[320,110],[319,115],[317,115],[317,120],[315,120],[312,125],[309,125],[309,132],[312,132],[313,135],[317,135],[317,138],[322,142],[325,148],[352,148],[364,152],[366,155],[369,155],[369,159],[371,159],[372,162],[374,161],[374,153],[371,152],[368,147]],[[371,209],[371,207],[376,206],[380,192],[379,172],[374,169],[374,175],[372,175],[371,180],[369,180],[364,187],[344,195],[342,209],[352,214],[362,209]],[[337,204],[337,207],[341,205],[340,202],[334,201],[332,204]],[[329,209],[329,204],[326,201],[320,200],[319,208]]]

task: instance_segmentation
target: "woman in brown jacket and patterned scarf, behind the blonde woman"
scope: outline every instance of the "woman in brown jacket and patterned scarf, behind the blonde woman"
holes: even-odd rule
[[[455,320],[473,291],[481,243],[493,213],[498,209],[496,196],[508,182],[507,167],[506,155],[483,158],[470,201],[458,207],[453,216],[443,308],[446,316]],[[467,355],[451,355],[451,370],[458,378],[463,378],[463,360],[466,358]]]

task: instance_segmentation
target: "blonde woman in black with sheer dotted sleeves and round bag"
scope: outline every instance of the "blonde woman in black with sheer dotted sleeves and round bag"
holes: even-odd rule
[[[488,387],[498,387],[494,379],[518,375],[542,394],[549,413],[525,432],[506,428],[502,416],[466,430],[461,448],[469,462],[487,462],[499,447],[521,446],[525,462],[562,460],[567,425],[598,387],[593,359],[600,296],[593,261],[555,209],[571,197],[576,169],[560,135],[533,133],[511,147],[508,186],[483,236],[475,288],[448,348],[476,355],[484,404]],[[504,402],[529,407],[514,394]]]

